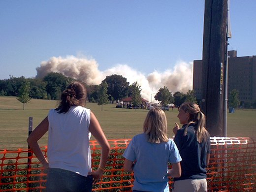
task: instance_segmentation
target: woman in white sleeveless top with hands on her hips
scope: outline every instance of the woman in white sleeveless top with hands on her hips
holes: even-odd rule
[[[27,139],[32,151],[48,169],[47,192],[91,192],[103,174],[110,146],[94,113],[85,108],[86,89],[71,83],[62,93],[61,102],[32,131]],[[46,159],[37,141],[48,131]],[[98,169],[92,172],[89,140],[91,133],[101,146]]]

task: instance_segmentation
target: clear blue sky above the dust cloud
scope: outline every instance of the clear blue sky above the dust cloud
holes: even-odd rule
[[[230,0],[238,56],[256,55],[256,1]],[[149,74],[202,59],[204,0],[0,0],[0,79],[34,77],[52,57]]]

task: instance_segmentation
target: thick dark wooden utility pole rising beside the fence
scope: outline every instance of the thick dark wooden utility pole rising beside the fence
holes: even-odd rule
[[[201,109],[211,136],[223,136],[227,0],[205,0]]]

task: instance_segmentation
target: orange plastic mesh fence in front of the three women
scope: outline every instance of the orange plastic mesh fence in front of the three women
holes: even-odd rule
[[[93,191],[131,191],[133,174],[123,171],[122,154],[130,139],[109,140],[111,154],[101,180]],[[256,192],[256,138],[211,137],[207,168],[210,192]],[[42,147],[47,155],[47,146]],[[97,168],[100,146],[91,141],[92,166]],[[0,151],[0,192],[45,191],[47,173],[28,149]],[[32,155],[28,158],[28,156]],[[171,189],[172,180],[169,180]]]

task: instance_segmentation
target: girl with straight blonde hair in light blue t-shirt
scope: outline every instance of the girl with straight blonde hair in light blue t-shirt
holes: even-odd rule
[[[134,171],[133,192],[169,192],[168,177],[181,175],[182,159],[167,137],[166,116],[160,108],[148,112],[143,133],[132,138],[123,156],[125,171]]]

